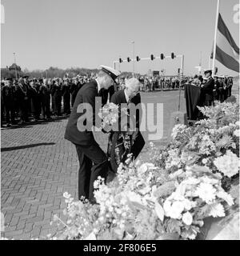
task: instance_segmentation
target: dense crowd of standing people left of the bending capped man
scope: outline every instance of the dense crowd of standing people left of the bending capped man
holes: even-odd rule
[[[70,114],[78,90],[90,78],[19,79],[6,78],[1,82],[1,126],[26,124],[42,119]]]

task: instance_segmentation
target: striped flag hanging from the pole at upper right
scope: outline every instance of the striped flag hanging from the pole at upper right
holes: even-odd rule
[[[213,53],[214,50],[212,50],[210,58],[213,58]],[[223,22],[221,14],[218,15],[216,59],[230,70],[239,72],[239,48]]]

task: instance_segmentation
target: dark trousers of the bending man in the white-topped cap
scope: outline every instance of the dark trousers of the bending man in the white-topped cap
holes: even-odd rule
[[[78,161],[78,198],[85,197],[94,202],[94,181],[98,176],[106,178],[108,173],[108,162],[106,154],[97,142],[90,146],[75,145]]]

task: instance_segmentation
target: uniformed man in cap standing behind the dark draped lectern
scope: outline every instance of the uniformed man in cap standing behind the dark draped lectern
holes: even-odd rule
[[[202,84],[202,102],[203,106],[211,106],[214,101],[214,78],[212,78],[212,70],[205,70],[204,75],[206,82]]]

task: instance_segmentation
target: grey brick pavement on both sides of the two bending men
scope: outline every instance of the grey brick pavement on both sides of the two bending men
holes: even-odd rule
[[[166,138],[170,114],[178,110],[178,91],[142,94],[142,102],[164,103]],[[183,92],[181,110],[185,111]],[[63,217],[66,204],[62,194],[67,191],[77,199],[78,158],[74,146],[63,138],[66,122],[1,130],[1,212],[6,238],[54,235],[61,226],[50,226],[50,222],[54,214]]]

